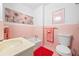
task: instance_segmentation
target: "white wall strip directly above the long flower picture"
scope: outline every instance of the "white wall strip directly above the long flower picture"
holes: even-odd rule
[[[33,16],[32,9],[24,4],[21,4],[21,3],[4,3],[3,6],[4,6],[4,8],[10,8],[10,9],[16,10],[18,12],[22,12],[26,15]]]

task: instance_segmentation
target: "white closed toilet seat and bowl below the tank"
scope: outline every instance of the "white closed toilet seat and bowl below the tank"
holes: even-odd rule
[[[64,46],[64,45],[57,45],[56,51],[57,51],[58,54],[60,54],[62,56],[71,55],[71,50],[67,46]]]

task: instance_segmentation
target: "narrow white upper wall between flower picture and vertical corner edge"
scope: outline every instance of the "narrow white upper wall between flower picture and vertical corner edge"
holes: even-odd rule
[[[43,5],[34,10],[34,25],[43,25]]]

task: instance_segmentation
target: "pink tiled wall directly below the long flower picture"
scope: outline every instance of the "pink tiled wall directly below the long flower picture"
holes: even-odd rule
[[[11,37],[30,37],[33,36],[33,27],[25,25],[10,24]]]

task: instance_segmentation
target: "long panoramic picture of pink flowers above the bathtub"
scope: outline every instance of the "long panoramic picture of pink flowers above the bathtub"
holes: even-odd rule
[[[33,17],[9,8],[5,8],[5,21],[32,25]]]

